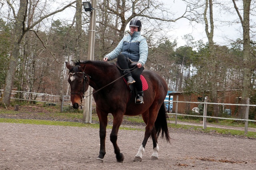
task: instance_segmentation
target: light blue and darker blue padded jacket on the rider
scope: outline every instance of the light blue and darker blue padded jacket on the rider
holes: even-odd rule
[[[124,36],[117,47],[105,57],[108,60],[113,60],[120,53],[128,57],[131,61],[137,61],[144,66],[148,58],[148,43],[146,38],[142,37],[139,31],[135,31],[132,35],[129,32],[129,35]]]

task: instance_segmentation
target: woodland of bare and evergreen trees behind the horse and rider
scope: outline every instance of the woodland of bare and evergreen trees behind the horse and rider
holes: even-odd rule
[[[178,1],[179,2],[179,1]],[[184,11],[174,13],[160,0],[97,0],[94,60],[102,60],[124,35],[133,18],[142,21],[142,35],[148,41],[145,68],[154,70],[176,92],[210,92],[217,103],[220,90],[235,90],[240,103],[256,103],[256,1],[182,0]],[[95,8],[95,7],[93,7]],[[183,36],[184,45],[168,32],[188,20],[192,27],[203,25],[204,37]],[[82,1],[0,1],[0,103],[9,105],[12,88],[52,95],[68,95],[65,61],[86,60],[90,12]],[[237,35],[220,37],[221,25],[236,27]],[[216,35],[218,30],[218,35]],[[234,30],[234,29],[233,29]],[[112,61],[115,62],[115,61]],[[22,97],[22,96],[20,96]],[[30,98],[36,96],[30,96]],[[237,112],[244,117],[246,107]],[[217,116],[218,106],[212,108]],[[256,119],[256,109],[250,110]]]

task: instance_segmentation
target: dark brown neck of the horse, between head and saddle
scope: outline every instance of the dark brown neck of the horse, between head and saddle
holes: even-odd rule
[[[121,76],[116,66],[110,64],[86,64],[85,73],[90,76],[89,85],[95,90],[110,84]]]

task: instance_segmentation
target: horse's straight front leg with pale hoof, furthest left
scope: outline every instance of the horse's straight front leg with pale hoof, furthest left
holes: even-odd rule
[[[97,111],[97,109],[96,109]],[[106,154],[105,150],[105,141],[106,141],[106,127],[108,124],[108,114],[103,114],[100,111],[97,111],[97,115],[100,121],[100,153],[96,161],[103,163],[103,158]]]

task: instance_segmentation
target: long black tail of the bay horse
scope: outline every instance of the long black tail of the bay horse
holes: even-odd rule
[[[168,118],[168,115],[166,114],[166,109],[163,103],[156,117],[155,128],[156,128],[157,137],[160,135],[160,132],[162,131],[161,138],[163,139],[165,136],[166,141],[170,143],[171,138],[169,136],[167,120],[169,120],[169,118]]]

